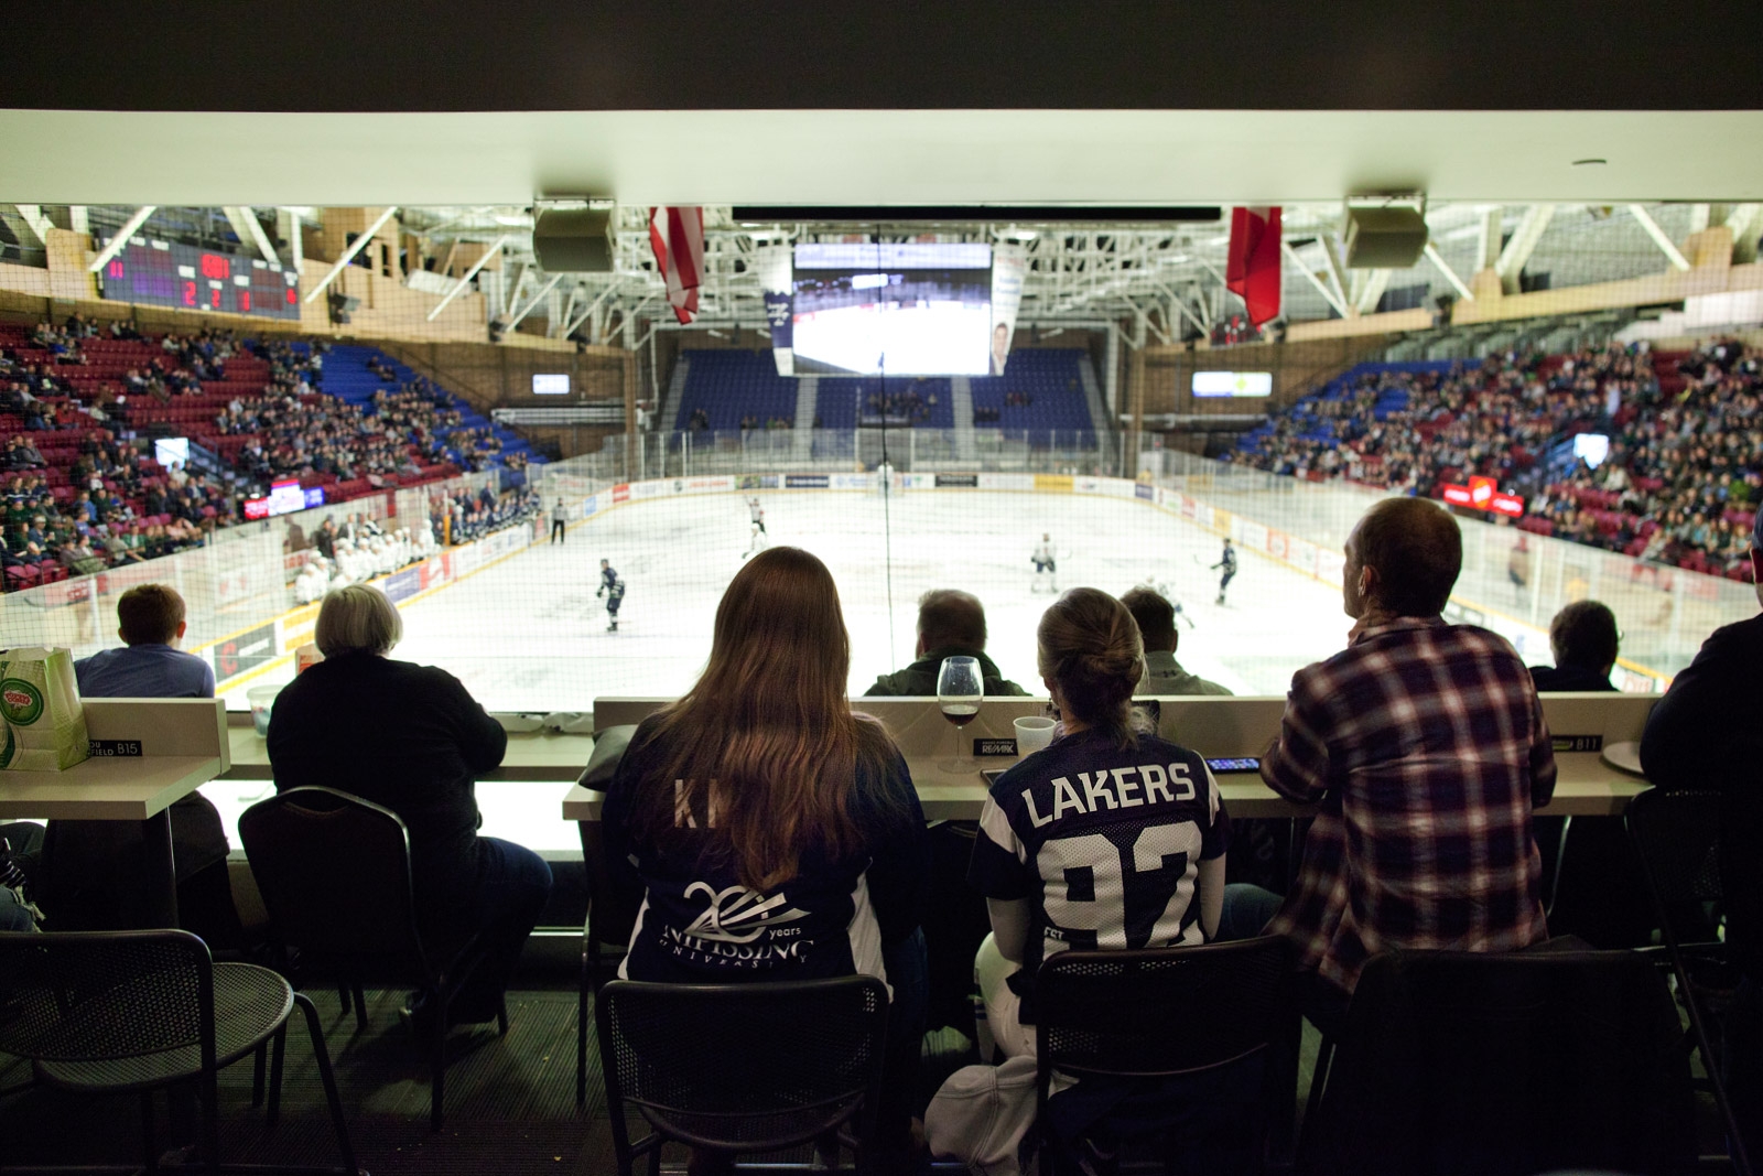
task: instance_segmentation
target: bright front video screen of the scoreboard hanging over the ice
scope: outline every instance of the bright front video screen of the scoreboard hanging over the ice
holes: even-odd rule
[[[797,376],[991,372],[991,245],[797,245]]]

